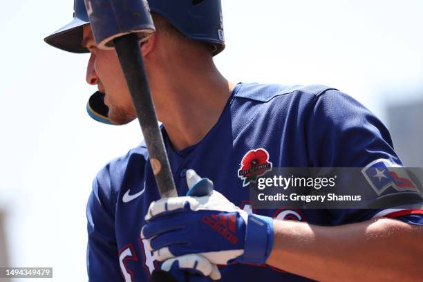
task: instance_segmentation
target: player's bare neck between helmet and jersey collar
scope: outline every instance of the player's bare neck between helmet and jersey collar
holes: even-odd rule
[[[180,151],[200,142],[218,122],[234,84],[214,64],[180,69],[163,81],[156,109],[173,149]]]

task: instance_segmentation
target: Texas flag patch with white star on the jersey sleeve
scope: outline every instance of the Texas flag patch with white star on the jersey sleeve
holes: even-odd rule
[[[389,160],[379,159],[370,162],[364,169],[361,169],[361,173],[375,190],[377,196],[381,196],[389,187],[397,191],[420,193],[417,185],[409,178],[406,169]]]

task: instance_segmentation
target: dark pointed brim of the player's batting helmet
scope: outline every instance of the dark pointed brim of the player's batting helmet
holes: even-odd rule
[[[89,21],[75,17],[66,26],[44,38],[44,41],[53,47],[71,53],[89,53],[88,49],[82,46],[82,26],[88,23]]]

